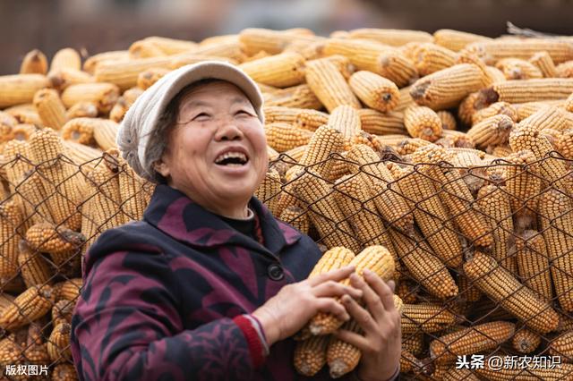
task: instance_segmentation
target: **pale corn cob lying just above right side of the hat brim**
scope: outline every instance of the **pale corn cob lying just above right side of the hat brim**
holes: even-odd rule
[[[271,55],[239,65],[253,80],[286,88],[304,82],[304,57],[296,53]]]

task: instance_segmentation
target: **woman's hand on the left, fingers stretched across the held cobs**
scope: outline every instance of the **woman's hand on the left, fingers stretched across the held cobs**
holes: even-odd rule
[[[286,284],[280,291],[252,312],[261,322],[269,346],[292,336],[319,312],[328,312],[341,320],[350,316],[335,299],[349,295],[362,298],[362,290],[340,284],[355,268],[352,266],[331,270],[295,284]]]

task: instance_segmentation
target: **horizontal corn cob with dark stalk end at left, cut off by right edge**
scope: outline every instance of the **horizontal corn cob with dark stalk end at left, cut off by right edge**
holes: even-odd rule
[[[482,97],[493,102],[526,103],[565,99],[573,92],[573,79],[543,78],[496,82],[481,91]]]

